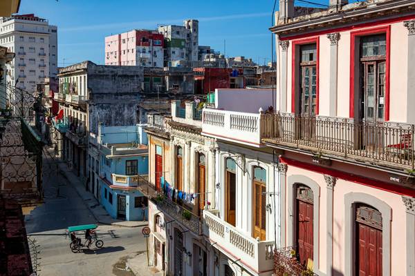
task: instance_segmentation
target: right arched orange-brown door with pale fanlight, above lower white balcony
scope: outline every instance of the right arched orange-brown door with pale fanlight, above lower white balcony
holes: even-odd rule
[[[266,240],[266,170],[254,168],[253,180],[253,230],[252,237]]]

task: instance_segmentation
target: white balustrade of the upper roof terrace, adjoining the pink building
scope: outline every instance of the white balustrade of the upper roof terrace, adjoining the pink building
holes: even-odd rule
[[[203,135],[259,147],[260,114],[203,108]]]

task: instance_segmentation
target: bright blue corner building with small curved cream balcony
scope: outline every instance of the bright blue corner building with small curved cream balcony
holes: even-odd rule
[[[137,190],[138,176],[149,169],[146,133],[142,126],[98,128],[102,206],[114,219],[147,220],[147,197]]]

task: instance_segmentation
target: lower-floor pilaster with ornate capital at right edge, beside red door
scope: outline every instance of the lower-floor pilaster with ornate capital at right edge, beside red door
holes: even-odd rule
[[[415,275],[415,198],[402,197],[403,204],[406,208],[406,233],[407,233],[407,273],[406,275]]]

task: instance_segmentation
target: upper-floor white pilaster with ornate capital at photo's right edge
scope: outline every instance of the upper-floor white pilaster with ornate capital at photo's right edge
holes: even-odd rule
[[[415,110],[409,103],[415,102],[415,20],[404,21],[408,29],[407,123],[415,124]]]

